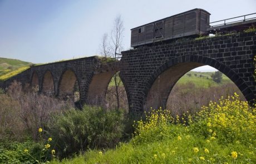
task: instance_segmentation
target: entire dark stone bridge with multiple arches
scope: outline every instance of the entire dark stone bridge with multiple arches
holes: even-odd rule
[[[102,105],[109,82],[117,71],[126,90],[129,111],[164,107],[175,83],[193,68],[209,65],[228,76],[249,102],[256,97],[253,58],[256,33],[237,33],[206,39],[153,43],[122,52],[118,62],[98,57],[34,66],[14,79],[38,85],[40,92],[65,97],[73,94],[77,81],[83,103]]]

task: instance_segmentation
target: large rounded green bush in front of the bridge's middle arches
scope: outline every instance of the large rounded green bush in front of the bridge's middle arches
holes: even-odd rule
[[[88,148],[114,147],[124,131],[124,114],[84,106],[82,111],[66,111],[55,117],[50,136],[55,139],[57,156],[63,158]]]

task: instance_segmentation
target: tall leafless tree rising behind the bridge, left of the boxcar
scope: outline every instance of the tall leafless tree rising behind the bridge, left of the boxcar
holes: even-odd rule
[[[101,53],[104,55],[104,57],[112,57],[117,59],[117,57],[120,57],[120,53],[122,51],[122,39],[124,38],[124,23],[122,21],[121,15],[117,15],[113,28],[111,31],[111,37],[110,42],[107,42],[108,36],[105,33],[102,37],[102,44],[101,44]],[[115,73],[114,75],[114,82],[115,82],[115,96],[117,100],[117,108],[120,107],[120,101],[119,101],[119,85],[121,83],[121,79],[119,77],[119,72]]]

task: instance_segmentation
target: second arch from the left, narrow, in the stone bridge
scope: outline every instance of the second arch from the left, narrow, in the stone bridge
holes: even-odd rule
[[[54,95],[54,89],[55,88],[52,72],[50,70],[47,70],[43,75],[42,93],[45,93],[47,95]]]

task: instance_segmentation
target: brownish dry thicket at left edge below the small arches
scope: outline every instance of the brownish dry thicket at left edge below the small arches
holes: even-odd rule
[[[14,81],[8,87],[7,93],[1,95],[1,138],[23,141],[31,137],[36,141],[38,128],[51,122],[53,113],[70,108],[67,103],[54,97],[39,95],[29,88],[22,88],[21,83]]]

